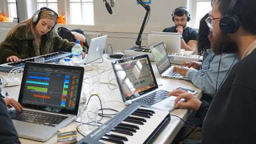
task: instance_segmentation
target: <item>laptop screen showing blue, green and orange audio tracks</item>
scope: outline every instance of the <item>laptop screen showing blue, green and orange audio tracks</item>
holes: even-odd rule
[[[75,111],[79,106],[83,71],[83,67],[26,63],[19,103],[49,111]]]

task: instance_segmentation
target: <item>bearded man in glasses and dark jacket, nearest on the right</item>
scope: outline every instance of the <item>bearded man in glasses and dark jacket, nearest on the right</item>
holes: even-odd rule
[[[175,106],[204,117],[202,143],[254,143],[256,117],[256,3],[255,0],[215,0],[210,17],[212,49],[235,53],[236,63],[211,105],[185,91],[171,91]],[[178,102],[180,99],[186,101]]]

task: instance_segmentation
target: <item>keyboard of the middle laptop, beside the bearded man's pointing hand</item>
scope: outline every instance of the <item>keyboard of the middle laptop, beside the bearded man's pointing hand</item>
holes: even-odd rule
[[[137,99],[136,102],[143,103],[145,105],[154,105],[155,103],[158,103],[159,101],[163,101],[163,99],[168,98],[168,93],[168,91],[164,90],[155,91],[154,93]]]

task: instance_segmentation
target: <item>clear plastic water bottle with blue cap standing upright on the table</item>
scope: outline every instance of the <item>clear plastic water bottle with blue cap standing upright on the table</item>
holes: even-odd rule
[[[82,65],[83,64],[82,52],[83,52],[83,48],[80,45],[79,39],[77,39],[76,44],[72,47],[72,50],[71,50],[72,61],[73,61],[74,65]]]

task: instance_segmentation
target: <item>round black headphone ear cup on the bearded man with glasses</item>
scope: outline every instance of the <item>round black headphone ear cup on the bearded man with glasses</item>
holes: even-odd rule
[[[240,27],[240,21],[236,15],[225,15],[219,21],[219,27],[224,33],[235,33]]]

